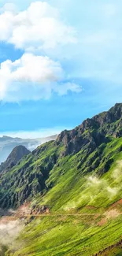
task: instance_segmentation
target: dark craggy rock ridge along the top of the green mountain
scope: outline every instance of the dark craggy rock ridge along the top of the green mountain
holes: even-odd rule
[[[8,203],[11,202],[10,197],[13,198],[13,205],[17,203],[20,205],[20,203],[24,202],[24,200],[30,196],[33,197],[37,193],[42,194],[44,191],[50,190],[55,184],[55,182],[53,181],[52,183],[50,179],[50,172],[56,168],[58,169],[60,162],[64,161],[65,158],[72,158],[76,154],[79,154],[79,162],[76,168],[78,172],[80,170],[81,173],[85,172],[87,174],[92,173],[92,171],[96,169],[98,175],[107,173],[113,164],[113,158],[111,154],[109,154],[106,158],[102,159],[102,151],[105,150],[105,147],[111,143],[114,138],[120,138],[121,113],[122,104],[116,104],[112,109],[109,109],[108,112],[100,113],[91,119],[83,121],[82,124],[71,131],[61,132],[55,141],[50,141],[35,149],[29,154],[29,157],[25,158],[24,161],[17,165],[15,171],[13,168],[9,172],[9,176],[12,175],[12,180],[17,179],[13,176],[14,172],[18,173],[20,180],[24,179],[23,175],[25,175],[26,180],[24,179],[24,188],[21,187],[20,180],[17,181],[17,191],[19,186],[21,192],[18,191],[18,195],[15,195],[16,189],[14,188],[13,190],[13,186],[8,184],[9,194],[7,194],[7,198],[4,197],[4,203],[2,202],[2,198],[0,199],[0,203],[3,203],[3,206],[4,204],[8,205]],[[117,150],[118,153],[121,152],[121,144]],[[83,154],[82,158],[80,158],[80,154]],[[90,158],[89,161],[87,161],[88,158]],[[100,162],[103,162],[101,167]],[[4,176],[3,180],[4,182],[1,177],[1,191],[3,191],[4,184],[9,182],[7,176]],[[14,184],[16,184],[16,182],[14,182]],[[22,200],[19,199],[19,202],[17,202],[15,198],[21,198]],[[9,206],[13,205],[10,203]]]

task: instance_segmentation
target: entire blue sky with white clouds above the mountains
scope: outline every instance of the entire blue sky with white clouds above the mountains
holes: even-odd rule
[[[0,135],[42,137],[122,98],[120,0],[0,1]]]

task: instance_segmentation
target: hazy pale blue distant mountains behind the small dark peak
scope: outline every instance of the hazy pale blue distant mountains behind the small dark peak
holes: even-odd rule
[[[22,145],[24,147],[27,147],[28,150],[35,150],[36,147],[39,145],[48,142],[52,139],[56,139],[57,135],[49,136],[46,138],[40,138],[40,139],[20,139],[20,138],[12,138],[9,136],[2,136],[0,137],[0,164],[3,161],[6,161],[6,158],[10,154],[10,152],[13,150],[14,147],[17,147],[19,145]]]

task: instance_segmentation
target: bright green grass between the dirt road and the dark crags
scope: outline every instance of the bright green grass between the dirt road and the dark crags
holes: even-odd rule
[[[98,207],[99,211],[119,200],[122,197],[122,166],[117,161],[122,159],[122,152],[119,152],[121,145],[121,138],[108,143],[102,152],[102,160],[99,161],[98,167],[86,175],[84,172],[87,162],[91,161],[91,165],[93,164],[95,152],[83,162],[81,169],[77,169],[77,166],[82,152],[61,159],[46,180],[47,186],[53,184],[53,187],[42,198],[38,198],[39,204],[49,205],[51,211],[86,211],[84,206],[87,205]],[[109,172],[100,176],[99,170],[109,158],[113,159],[113,164]]]

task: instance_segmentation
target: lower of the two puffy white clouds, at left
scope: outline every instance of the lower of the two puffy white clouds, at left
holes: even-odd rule
[[[17,61],[4,61],[0,69],[0,100],[18,102],[49,98],[52,92],[79,92],[76,83],[62,83],[65,74],[58,61],[24,54]]]

